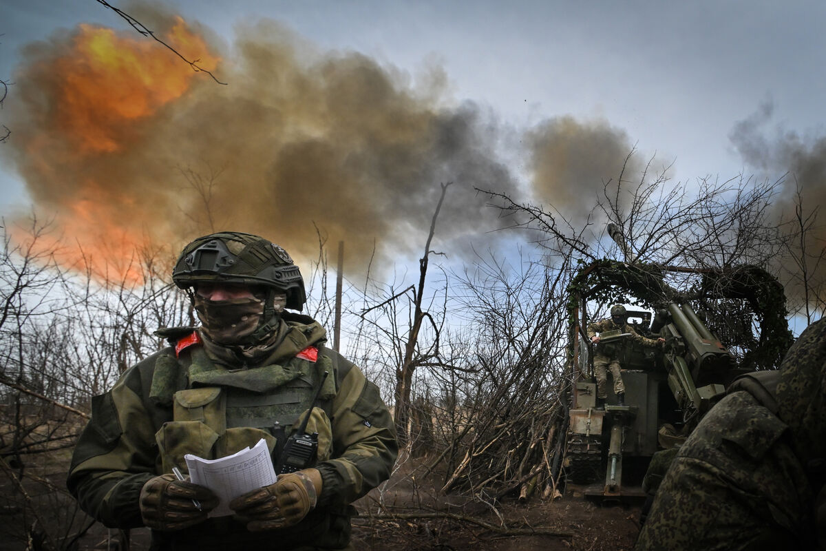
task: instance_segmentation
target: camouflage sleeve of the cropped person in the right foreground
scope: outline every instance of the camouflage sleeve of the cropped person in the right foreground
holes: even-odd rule
[[[668,468],[635,549],[808,549],[792,545],[805,475],[785,428],[745,392],[720,401]]]

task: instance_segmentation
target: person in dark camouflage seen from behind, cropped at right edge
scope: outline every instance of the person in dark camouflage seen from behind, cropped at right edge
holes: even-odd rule
[[[638,551],[826,549],[826,319],[779,371],[700,420],[657,489]]]

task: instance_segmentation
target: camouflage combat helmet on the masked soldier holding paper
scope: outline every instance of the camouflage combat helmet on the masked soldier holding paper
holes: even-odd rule
[[[301,271],[287,251],[259,235],[222,231],[183,248],[172,271],[178,287],[201,282],[258,285],[287,295],[287,308],[301,311],[306,291]]]

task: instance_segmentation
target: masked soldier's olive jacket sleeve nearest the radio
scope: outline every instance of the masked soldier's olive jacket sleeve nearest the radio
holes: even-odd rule
[[[378,392],[350,368],[332,404],[333,458],[319,463],[320,504],[357,500],[390,477],[396,462],[396,427]]]

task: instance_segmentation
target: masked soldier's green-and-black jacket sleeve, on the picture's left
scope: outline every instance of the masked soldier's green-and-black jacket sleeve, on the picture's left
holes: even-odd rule
[[[83,511],[110,528],[143,525],[140,489],[156,474],[154,426],[141,394],[140,373],[134,367],[110,392],[93,397],[92,419],[72,455],[69,492]]]

